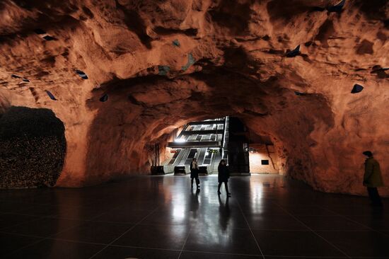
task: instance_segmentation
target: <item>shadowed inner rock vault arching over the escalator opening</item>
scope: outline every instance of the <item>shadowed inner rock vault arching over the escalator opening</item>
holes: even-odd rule
[[[185,123],[231,115],[253,133],[272,137],[283,158],[281,172],[321,188],[312,173],[315,157],[310,149],[316,143],[310,134],[317,124],[333,127],[332,111],[323,96],[296,96],[281,84],[274,78],[259,84],[218,69],[176,79],[115,81],[96,90],[88,100],[96,117],[90,128],[84,184],[149,174],[146,146],[159,143],[164,149],[172,132]],[[108,93],[109,102],[98,101],[103,93]]]

